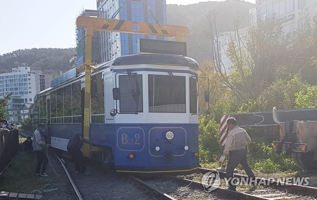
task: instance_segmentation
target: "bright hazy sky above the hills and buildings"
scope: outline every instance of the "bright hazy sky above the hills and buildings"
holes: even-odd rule
[[[166,4],[202,1],[206,0]],[[0,0],[0,55],[17,49],[75,47],[75,20],[83,8],[96,9],[96,0]]]

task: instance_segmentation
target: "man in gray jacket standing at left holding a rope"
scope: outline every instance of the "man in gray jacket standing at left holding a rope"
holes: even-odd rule
[[[44,124],[40,123],[37,126],[37,129],[33,133],[33,150],[36,153],[37,157],[37,166],[36,166],[36,176],[48,176],[45,173],[47,163],[49,162],[47,156],[45,155],[45,150],[49,147],[49,144],[45,143],[44,137],[41,132],[45,129]],[[42,166],[42,169],[41,169]],[[40,173],[41,171],[41,173]]]

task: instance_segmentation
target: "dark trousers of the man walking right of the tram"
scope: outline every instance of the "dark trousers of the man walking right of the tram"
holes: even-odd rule
[[[232,183],[231,179],[233,178],[233,170],[238,166],[238,164],[242,165],[243,169],[248,174],[249,178],[252,178],[252,180],[255,180],[255,176],[248,165],[247,150],[246,149],[233,150],[233,151],[230,151],[229,153],[229,159],[228,159],[227,170],[226,170],[227,179],[229,182],[229,186],[231,188],[236,188],[236,184]]]

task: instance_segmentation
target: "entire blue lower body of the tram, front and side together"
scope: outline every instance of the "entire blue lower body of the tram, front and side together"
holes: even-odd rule
[[[174,133],[171,140],[166,138],[169,131]],[[55,147],[66,150],[68,139],[76,133],[81,133],[80,123],[53,123],[45,135],[52,143],[57,138]],[[89,136],[94,145],[112,147],[118,172],[191,171],[199,165],[198,156],[194,156],[198,124],[91,124]]]

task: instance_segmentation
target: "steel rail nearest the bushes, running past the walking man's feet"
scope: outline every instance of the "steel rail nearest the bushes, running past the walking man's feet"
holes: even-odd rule
[[[201,173],[207,173],[207,172],[212,172],[214,170],[211,169],[206,169],[206,168],[199,168],[199,171]],[[219,171],[220,178],[226,177],[225,172]],[[247,178],[248,176],[244,176],[241,174],[234,174],[234,177],[239,177],[239,178]],[[305,185],[296,185],[292,183],[285,183],[277,180],[272,180],[272,179],[265,179],[265,178],[256,178],[257,183],[260,181],[267,183],[264,185],[265,187],[273,187],[276,189],[287,189],[288,192],[294,192],[294,193],[304,193],[308,195],[316,195],[317,194],[317,188],[315,187],[310,187],[310,186],[305,186]]]

